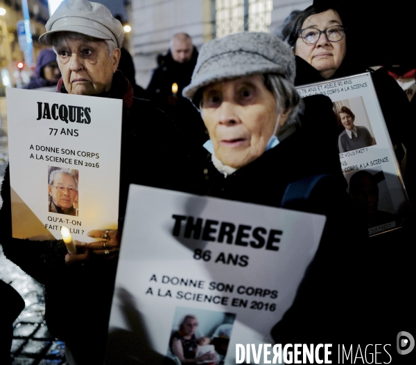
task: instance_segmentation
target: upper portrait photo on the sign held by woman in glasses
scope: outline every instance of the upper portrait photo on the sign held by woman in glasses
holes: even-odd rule
[[[333,111],[336,114],[340,131],[338,136],[340,153],[376,145],[361,96],[334,102]]]

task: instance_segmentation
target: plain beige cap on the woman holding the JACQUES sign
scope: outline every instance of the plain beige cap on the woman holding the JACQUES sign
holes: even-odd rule
[[[45,27],[46,33],[39,37],[39,42],[49,46],[52,45],[51,34],[57,32],[75,32],[98,39],[112,39],[117,47],[123,45],[123,26],[101,3],[64,0]]]

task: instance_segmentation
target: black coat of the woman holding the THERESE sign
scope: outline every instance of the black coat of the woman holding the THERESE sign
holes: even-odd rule
[[[200,187],[200,193],[205,195],[280,207],[288,184],[312,175],[329,175],[315,186],[308,200],[297,200],[285,206],[325,215],[327,223],[293,306],[272,331],[276,343],[281,344],[325,343],[328,334],[334,337],[355,330],[362,308],[357,299],[364,299],[365,292],[361,274],[367,229],[345,191],[347,183],[340,169],[336,145],[325,144],[336,136],[336,129],[326,129],[334,118],[331,101],[326,96],[311,96],[304,101],[306,115],[297,132],[227,177],[207,161]],[[325,105],[329,107],[327,114]],[[313,134],[317,129],[320,135]],[[322,131],[328,132],[329,139],[322,138]],[[352,242],[355,250],[352,250]],[[345,295],[352,290],[357,296]]]

